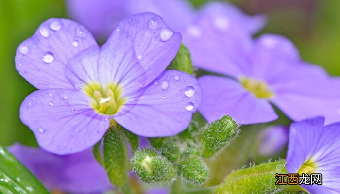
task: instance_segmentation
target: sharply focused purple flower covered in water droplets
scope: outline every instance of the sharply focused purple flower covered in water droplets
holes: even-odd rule
[[[20,118],[56,154],[93,146],[112,119],[140,136],[177,134],[201,102],[194,77],[164,71],[180,44],[153,13],[123,19],[101,47],[75,22],[47,20],[17,49],[17,70],[39,89]]]

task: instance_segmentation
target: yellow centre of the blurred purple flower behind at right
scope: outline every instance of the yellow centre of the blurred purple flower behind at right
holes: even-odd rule
[[[264,81],[241,77],[240,82],[244,89],[254,94],[257,98],[269,99],[274,96],[274,93],[269,89],[268,84]]]

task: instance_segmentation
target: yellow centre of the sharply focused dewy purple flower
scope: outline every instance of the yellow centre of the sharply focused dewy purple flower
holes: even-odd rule
[[[119,112],[126,99],[117,84],[109,84],[102,88],[100,83],[90,83],[82,88],[85,94],[92,97],[91,106],[101,114],[114,115]]]

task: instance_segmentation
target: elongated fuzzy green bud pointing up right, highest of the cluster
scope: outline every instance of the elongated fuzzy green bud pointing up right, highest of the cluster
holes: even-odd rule
[[[238,124],[231,116],[223,116],[203,130],[200,137],[202,156],[212,157],[239,133]]]

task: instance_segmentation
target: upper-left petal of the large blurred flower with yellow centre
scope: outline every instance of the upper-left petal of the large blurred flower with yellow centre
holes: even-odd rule
[[[187,26],[183,39],[199,68],[234,77],[248,69],[251,36],[232,20],[202,16]]]

